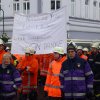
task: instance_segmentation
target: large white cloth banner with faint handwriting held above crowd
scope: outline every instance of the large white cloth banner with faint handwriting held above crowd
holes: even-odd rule
[[[55,46],[66,50],[65,9],[41,15],[15,15],[12,54],[24,54],[26,47],[33,47],[37,54],[52,53]]]

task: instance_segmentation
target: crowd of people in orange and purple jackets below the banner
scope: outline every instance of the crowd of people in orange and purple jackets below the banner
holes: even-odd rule
[[[66,52],[36,54],[28,47],[11,54],[0,39],[0,100],[100,100],[100,43],[70,42]]]

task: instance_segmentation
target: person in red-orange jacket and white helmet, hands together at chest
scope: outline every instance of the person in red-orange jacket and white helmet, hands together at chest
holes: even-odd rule
[[[26,48],[25,58],[18,64],[17,67],[22,76],[22,97],[20,100],[36,100],[37,98],[37,76],[38,62],[30,54],[30,48]]]

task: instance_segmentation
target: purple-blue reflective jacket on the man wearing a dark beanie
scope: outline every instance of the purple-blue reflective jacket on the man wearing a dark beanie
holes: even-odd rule
[[[93,90],[93,73],[88,62],[79,57],[68,58],[60,72],[61,90],[65,98],[84,98]]]

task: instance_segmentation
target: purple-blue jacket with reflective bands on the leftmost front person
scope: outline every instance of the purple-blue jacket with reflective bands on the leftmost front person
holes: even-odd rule
[[[4,69],[0,65],[0,96],[12,97],[16,95],[20,85],[21,77],[15,67],[10,64]]]

